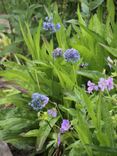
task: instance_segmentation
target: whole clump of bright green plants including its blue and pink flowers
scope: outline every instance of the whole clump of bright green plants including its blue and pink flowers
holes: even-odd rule
[[[15,54],[16,61],[4,62],[0,71],[6,87],[1,140],[42,155],[116,153],[116,74],[106,68],[108,50],[100,53],[102,38],[85,28],[79,11],[78,16],[82,24],[73,26],[78,34],[72,36],[57,11],[54,19],[40,20],[34,34],[20,22],[29,57]],[[43,28],[55,38],[41,36]]]

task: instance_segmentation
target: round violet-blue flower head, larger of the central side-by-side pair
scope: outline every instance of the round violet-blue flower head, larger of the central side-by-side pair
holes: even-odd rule
[[[78,62],[78,60],[80,59],[80,54],[78,53],[77,50],[75,49],[67,49],[64,53],[64,58],[67,62]]]

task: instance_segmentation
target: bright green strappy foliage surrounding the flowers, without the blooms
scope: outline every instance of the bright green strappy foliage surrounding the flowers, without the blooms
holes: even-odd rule
[[[23,9],[28,4],[25,2]],[[83,1],[82,12],[80,7],[77,10],[78,20],[69,21],[68,27],[63,24],[58,7],[54,4],[53,20],[55,24],[59,22],[61,28],[53,34],[43,32],[42,19],[38,27],[32,29],[30,18],[25,19],[25,22],[20,18],[19,26],[23,37],[20,42],[23,47],[20,50],[25,49],[27,53],[23,55],[16,52],[12,54],[11,60],[2,61],[1,140],[42,155],[117,155],[117,27],[113,17],[113,1],[107,1],[108,16],[105,21],[101,16],[102,2]],[[90,13],[98,6],[97,13],[87,22],[83,12]],[[45,9],[51,15],[46,7]],[[73,64],[66,62],[64,57],[54,59],[52,52],[57,47],[63,53],[71,47],[77,49],[80,60]],[[112,58],[110,62],[106,61],[107,56]],[[81,67],[82,63],[87,63],[88,66]],[[89,95],[86,92],[86,82],[93,80],[98,83],[101,77],[113,77],[114,89],[110,93],[99,90]],[[28,105],[32,94],[36,92],[49,97],[49,103],[38,112]],[[53,107],[57,110],[55,118],[47,113]],[[70,120],[70,129],[60,133],[63,119]]]

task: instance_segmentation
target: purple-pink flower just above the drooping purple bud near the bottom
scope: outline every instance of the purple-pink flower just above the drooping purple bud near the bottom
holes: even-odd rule
[[[70,126],[69,120],[63,119],[61,128],[60,128],[60,132],[64,133],[64,132],[68,131],[70,127],[71,126]]]

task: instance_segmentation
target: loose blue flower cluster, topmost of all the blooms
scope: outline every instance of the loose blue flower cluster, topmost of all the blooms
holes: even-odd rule
[[[46,17],[45,21],[43,22],[43,29],[50,31],[50,32],[56,32],[61,28],[60,23],[57,23],[56,25],[53,23],[53,18],[52,17]]]

